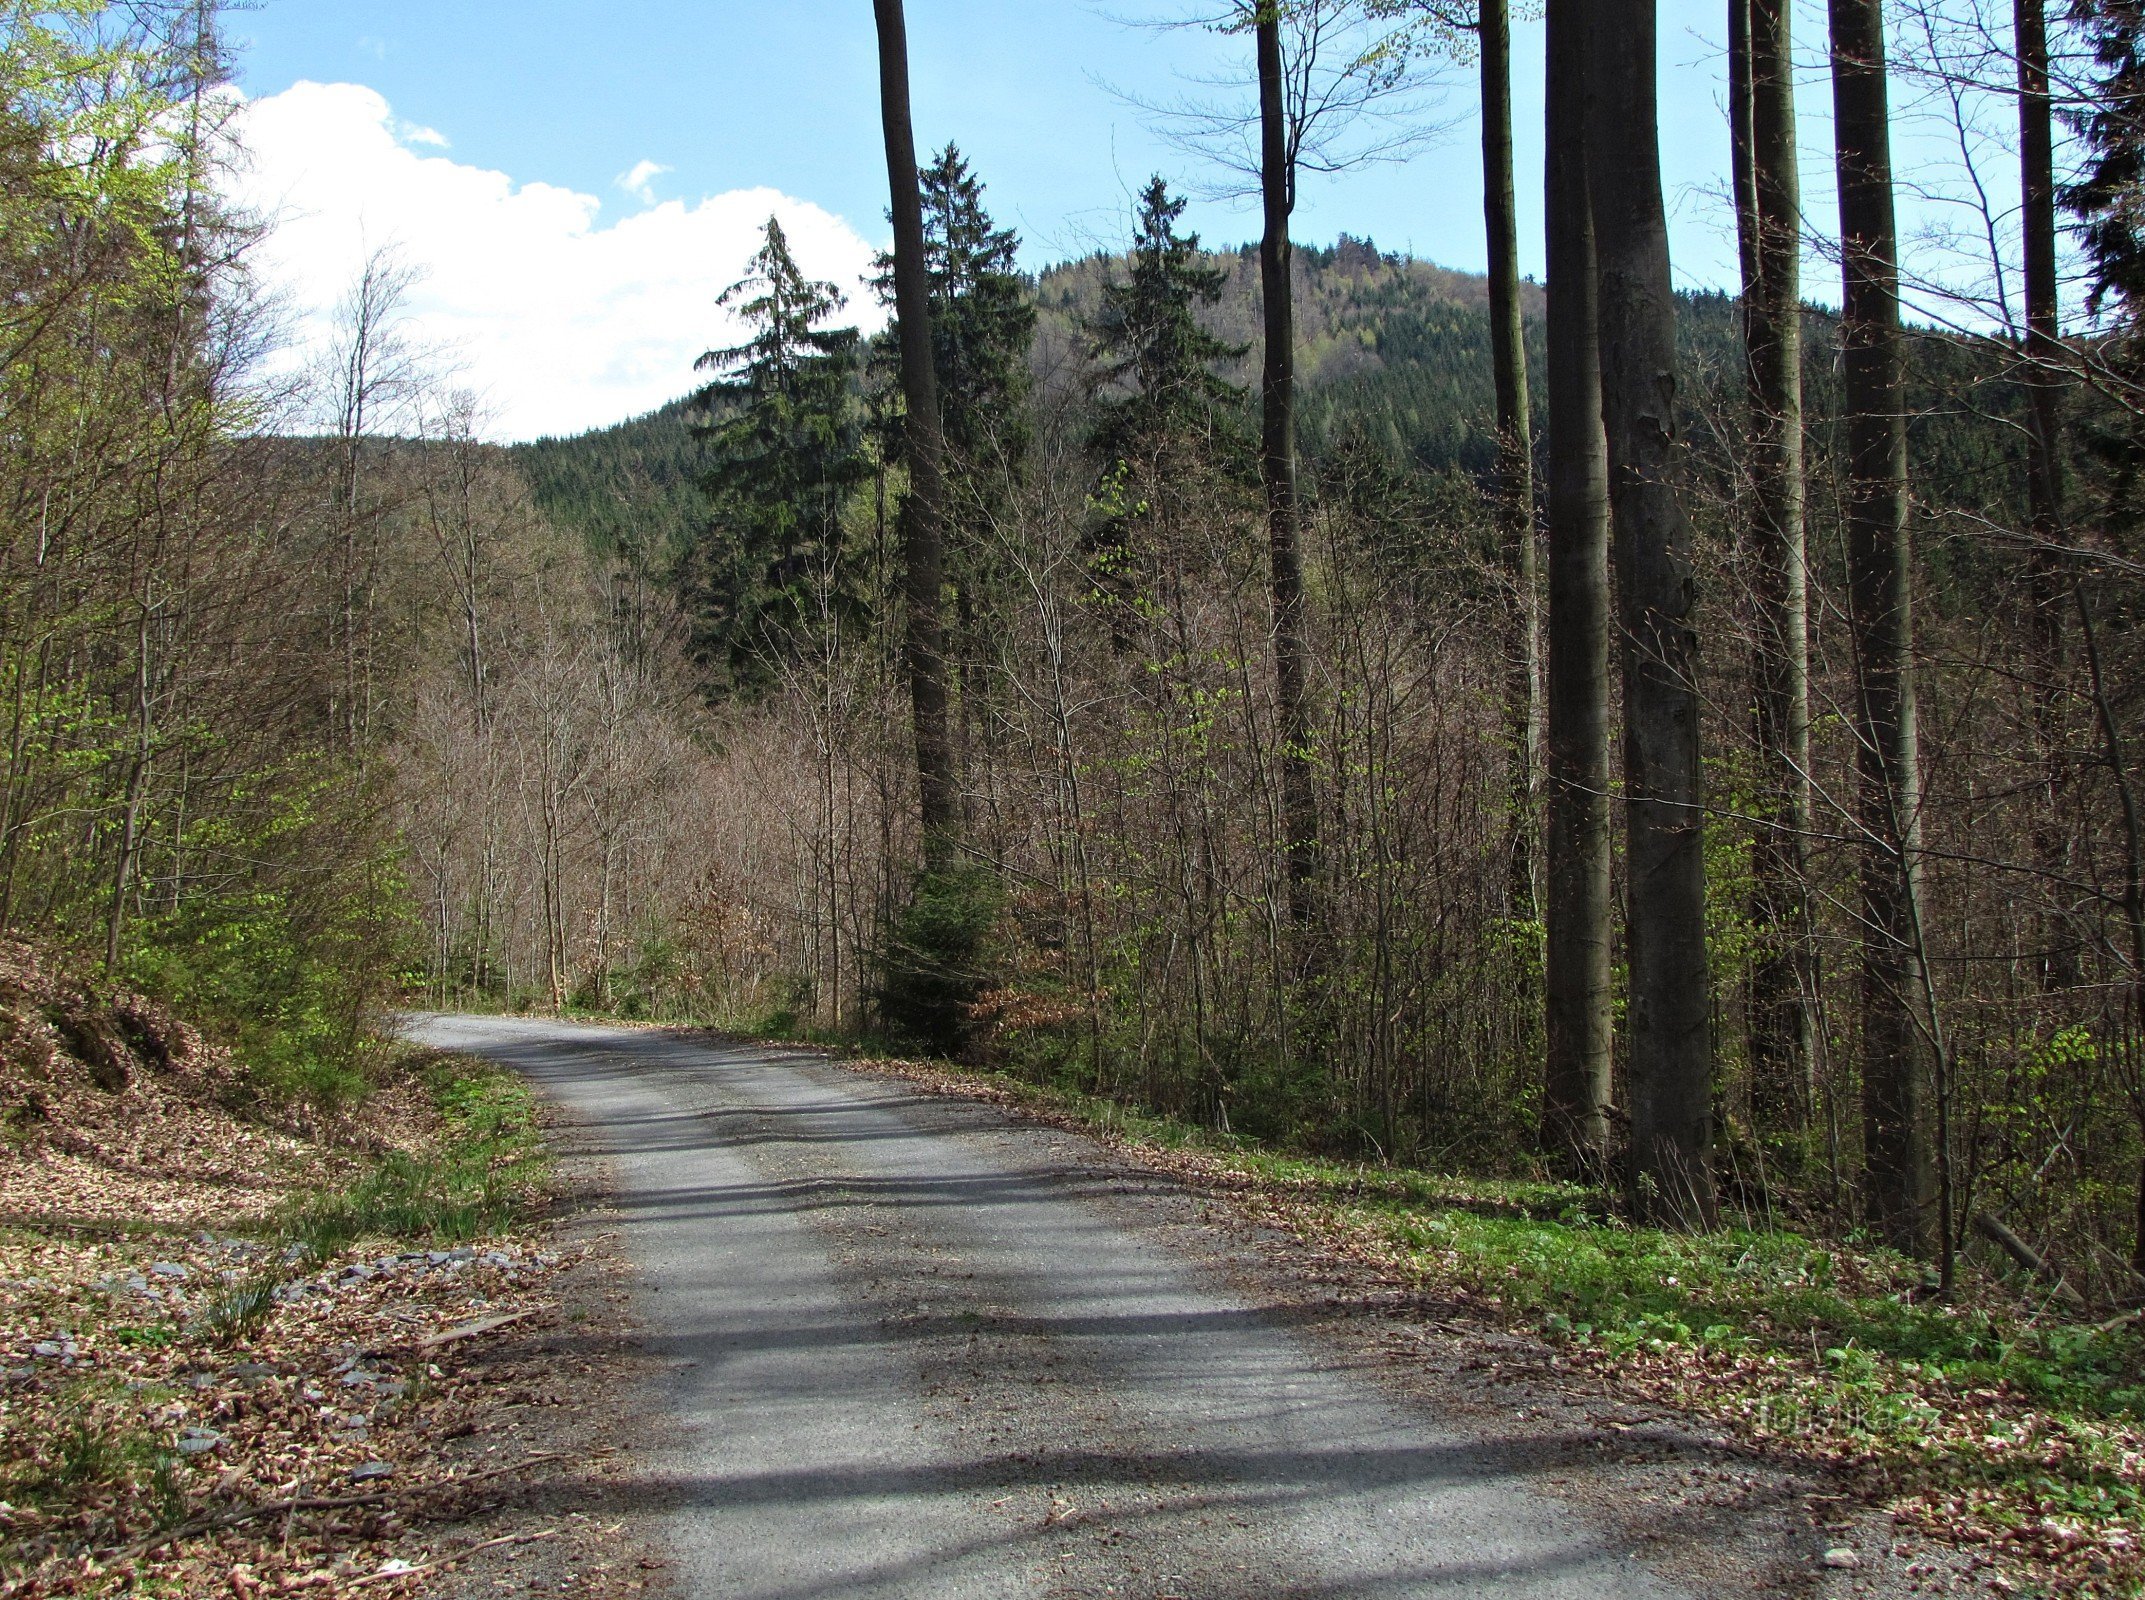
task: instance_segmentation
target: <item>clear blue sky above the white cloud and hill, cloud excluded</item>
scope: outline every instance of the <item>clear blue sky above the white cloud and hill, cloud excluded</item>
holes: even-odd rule
[[[1150,6],[1158,9],[1158,6]],[[1212,69],[1229,41],[1154,34],[1113,15],[1141,0],[912,0],[918,144],[957,139],[1030,240],[1034,262],[1115,240],[1128,193],[1193,163],[1141,127],[1109,86],[1148,97],[1178,71]],[[1705,60],[1718,6],[1662,9],[1662,150],[1680,197],[1680,266],[1695,283],[1733,268],[1703,191],[1727,159],[1718,71]],[[601,21],[594,21],[601,17]],[[867,0],[264,0],[232,17],[240,82],[380,90],[397,116],[442,131],[455,157],[519,180],[607,193],[637,161],[671,167],[656,193],[772,187],[877,236],[886,176]],[[1521,21],[1521,161],[1540,163],[1540,24]],[[1446,97],[1467,116],[1465,71]],[[1482,262],[1474,124],[1405,167],[1319,180],[1298,234],[1347,229],[1448,266]],[[1523,193],[1534,202],[1538,180]],[[1697,189],[1699,193],[1688,193]],[[1248,210],[1201,206],[1212,242],[1257,232]],[[1538,251],[1529,234],[1529,255]]]

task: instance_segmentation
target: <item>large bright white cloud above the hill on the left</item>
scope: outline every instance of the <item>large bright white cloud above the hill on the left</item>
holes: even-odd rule
[[[701,350],[738,341],[714,296],[742,275],[770,214],[807,272],[862,287],[873,247],[849,223],[774,189],[667,199],[618,221],[596,195],[425,154],[423,131],[358,84],[296,84],[245,105],[238,199],[275,219],[257,270],[294,315],[292,362],[317,350],[369,249],[423,272],[410,332],[459,365],[502,440],[616,423],[693,386]],[[656,174],[641,163],[626,178]]]

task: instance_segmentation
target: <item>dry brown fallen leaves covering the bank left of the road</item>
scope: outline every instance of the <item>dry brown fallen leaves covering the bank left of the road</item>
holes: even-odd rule
[[[82,1014],[124,1055],[84,1060]],[[176,1019],[0,948],[4,1600],[420,1591],[472,1553],[453,1521],[543,1461],[472,1437],[506,1403],[483,1351],[573,1257],[515,1233],[309,1261],[262,1218],[425,1145],[429,1098],[270,1126],[238,1087]]]

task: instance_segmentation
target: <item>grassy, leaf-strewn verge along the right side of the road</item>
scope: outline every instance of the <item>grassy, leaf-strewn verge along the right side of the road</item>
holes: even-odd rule
[[[1529,1381],[1660,1407],[1815,1473],[1838,1568],[1881,1561],[1933,1594],[2145,1594],[2134,1319],[2072,1325],[1978,1272],[1937,1300],[1911,1261],[1789,1231],[1632,1229],[1564,1184],[1281,1156],[1010,1075],[852,1062],[1098,1135],[1351,1304],[1471,1328]]]

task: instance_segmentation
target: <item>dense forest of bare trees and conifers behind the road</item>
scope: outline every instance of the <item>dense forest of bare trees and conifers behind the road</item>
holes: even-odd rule
[[[9,13],[0,924],[313,1094],[408,999],[884,1038],[2134,1300],[2134,6],[1885,69],[1836,0],[1836,219],[1740,9],[1737,296],[1669,292],[1645,161],[1574,189],[1650,71],[1551,94],[1547,287],[1497,116],[1486,277],[1289,240],[1317,118],[1454,32],[1221,11],[1255,245],[1158,176],[1027,272],[948,146],[884,335],[770,223],[704,388],[513,448],[390,253],[262,377],[212,6]],[[1553,73],[1652,49],[1568,13]],[[1900,242],[1888,71],[2040,152],[1980,279]]]

